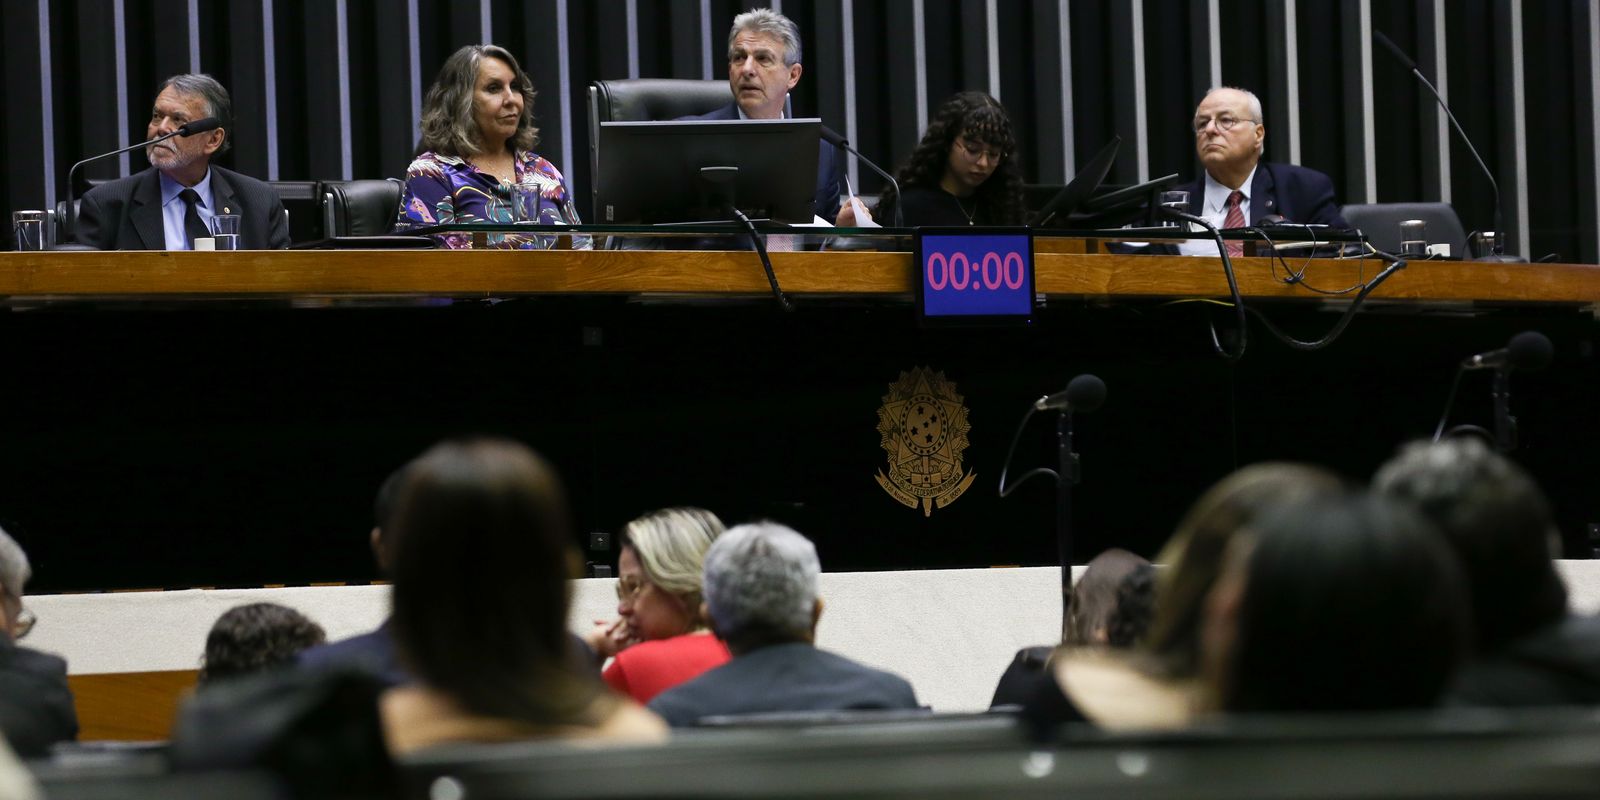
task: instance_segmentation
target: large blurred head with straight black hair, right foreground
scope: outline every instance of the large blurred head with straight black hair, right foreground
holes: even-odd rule
[[[1406,504],[1320,498],[1261,515],[1208,602],[1208,688],[1232,712],[1438,702],[1470,642],[1456,558]]]

